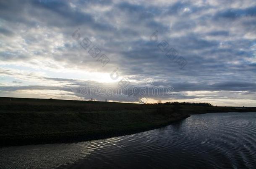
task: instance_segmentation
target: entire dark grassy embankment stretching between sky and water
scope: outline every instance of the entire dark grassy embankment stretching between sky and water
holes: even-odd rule
[[[102,139],[165,126],[187,114],[235,111],[256,108],[0,97],[0,145]]]

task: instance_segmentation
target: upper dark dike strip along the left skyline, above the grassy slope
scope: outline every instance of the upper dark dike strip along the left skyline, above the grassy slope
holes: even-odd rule
[[[101,101],[73,101],[38,98],[0,97],[0,110],[38,110],[38,111],[112,111],[140,110],[155,108],[154,105],[135,103],[115,103]]]

